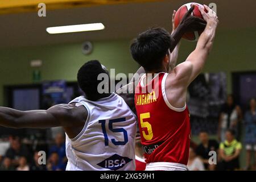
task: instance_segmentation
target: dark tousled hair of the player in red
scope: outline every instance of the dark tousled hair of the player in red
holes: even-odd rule
[[[153,71],[162,67],[170,46],[170,34],[164,28],[157,27],[139,34],[131,42],[130,51],[133,59],[146,71]]]

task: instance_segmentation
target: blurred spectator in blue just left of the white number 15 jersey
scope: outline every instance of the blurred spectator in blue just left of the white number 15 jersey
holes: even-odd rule
[[[65,138],[62,133],[58,133],[55,137],[55,145],[53,145],[49,150],[49,155],[53,152],[57,152],[59,155],[59,160],[61,163],[67,163],[68,159],[66,156],[66,148],[65,148]]]

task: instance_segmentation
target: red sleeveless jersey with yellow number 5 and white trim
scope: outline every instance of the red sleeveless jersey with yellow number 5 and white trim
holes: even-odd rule
[[[172,162],[187,165],[191,127],[188,107],[173,107],[167,100],[168,73],[159,73],[144,85],[144,75],[135,89],[141,143],[146,163]]]

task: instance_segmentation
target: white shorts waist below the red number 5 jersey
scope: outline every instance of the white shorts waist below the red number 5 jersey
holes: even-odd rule
[[[188,168],[179,163],[156,162],[146,164],[145,171],[188,171]]]

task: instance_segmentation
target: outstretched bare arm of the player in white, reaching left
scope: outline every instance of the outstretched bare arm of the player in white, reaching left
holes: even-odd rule
[[[81,108],[68,104],[55,105],[48,110],[30,111],[0,107],[0,126],[16,129],[76,126],[84,121],[82,119],[86,118],[86,113],[82,113]]]

